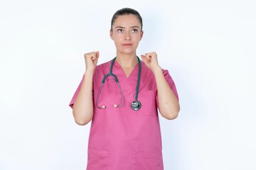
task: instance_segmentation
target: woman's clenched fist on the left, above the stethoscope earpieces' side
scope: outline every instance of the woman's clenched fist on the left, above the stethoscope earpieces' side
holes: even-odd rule
[[[97,66],[100,52],[87,52],[84,54],[86,70],[94,70]]]

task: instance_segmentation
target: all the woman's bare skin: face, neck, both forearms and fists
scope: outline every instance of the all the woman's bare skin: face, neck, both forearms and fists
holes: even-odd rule
[[[121,65],[127,77],[137,64],[137,47],[142,40],[143,30],[141,23],[136,16],[129,14],[117,17],[112,29],[110,38],[114,41],[117,50],[116,61]],[[97,66],[100,52],[85,53],[85,74],[80,92],[73,105],[73,116],[78,125],[86,125],[92,120],[92,77]],[[159,112],[168,119],[178,116],[180,106],[169,84],[164,78],[161,67],[159,66],[156,52],[148,52],[141,55],[143,62],[153,72],[156,79],[157,94],[159,98]]]

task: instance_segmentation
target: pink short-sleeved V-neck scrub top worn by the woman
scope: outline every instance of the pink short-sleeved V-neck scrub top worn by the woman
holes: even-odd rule
[[[137,86],[139,64],[126,77],[122,67],[114,61],[113,74],[117,75],[124,94],[124,105],[114,108],[122,102],[114,77],[107,77],[99,97],[99,109],[96,106],[97,94],[103,77],[110,73],[110,62],[96,67],[93,76],[94,113],[88,143],[87,170],[163,170],[161,131],[158,117],[158,98],[154,74],[142,62],[142,74],[139,85],[138,101],[142,103],[139,111],[131,108]],[[176,98],[178,94],[173,79],[167,70],[163,74]],[[82,80],[83,81],[83,80]],[[70,101],[73,107],[80,86]]]

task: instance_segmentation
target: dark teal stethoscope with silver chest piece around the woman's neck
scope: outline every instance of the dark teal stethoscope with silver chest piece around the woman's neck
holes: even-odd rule
[[[139,73],[138,73],[138,79],[137,79],[135,100],[132,101],[132,104],[131,104],[132,109],[133,109],[134,111],[138,111],[138,110],[142,107],[142,103],[140,103],[140,102],[138,101],[139,81],[140,81],[141,72],[142,72],[142,65],[141,65],[141,61],[139,60],[139,57],[137,57],[137,58],[138,58],[138,61],[139,61]],[[97,99],[96,99],[96,106],[97,106],[97,108],[100,108],[100,109],[106,108],[105,105],[99,106],[98,103],[99,103],[99,97],[100,97],[100,93],[101,93],[101,91],[102,91],[102,87],[103,87],[103,85],[104,85],[104,83],[105,83],[106,78],[109,77],[109,76],[114,77],[115,81],[117,82],[117,86],[118,86],[118,89],[119,89],[119,91],[120,91],[120,94],[121,94],[121,96],[122,96],[122,102],[121,102],[119,105],[114,104],[114,108],[122,107],[122,106],[124,105],[124,94],[123,94],[123,92],[122,92],[122,89],[121,89],[121,86],[120,86],[119,81],[118,81],[118,79],[117,79],[117,76],[112,73],[112,69],[113,69],[113,65],[114,65],[114,60],[115,60],[115,59],[116,59],[116,57],[114,57],[114,59],[113,59],[112,62],[111,62],[110,73],[109,73],[109,74],[106,74],[105,77],[103,77],[103,79],[102,79],[102,84],[101,84],[101,86],[100,86],[100,90],[99,90],[99,93],[97,94]]]

